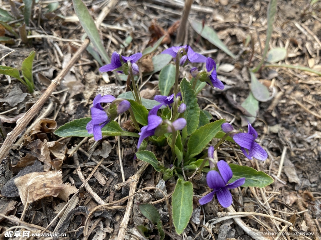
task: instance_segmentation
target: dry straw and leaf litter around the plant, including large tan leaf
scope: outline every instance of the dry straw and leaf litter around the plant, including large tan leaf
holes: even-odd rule
[[[10,9],[9,3],[7,1],[3,2],[4,7]],[[99,2],[88,2],[86,4],[94,18],[99,15],[104,6]],[[107,25],[99,28],[105,46],[104,49],[108,49],[107,55],[110,56],[112,52],[118,51],[120,44],[123,44],[128,36],[132,36],[133,40],[127,47],[122,48],[124,55],[130,55],[133,51],[143,51],[149,46],[148,43],[151,40],[157,41],[161,34],[166,34],[167,36],[167,32],[170,35],[169,40],[173,42],[177,20],[179,19],[178,14],[181,13],[183,5],[173,5],[170,1],[166,1],[166,4],[164,5],[163,2],[157,0],[149,0],[146,3],[139,1],[124,2],[113,7],[112,14],[109,14],[103,22],[103,24]],[[51,34],[52,36],[59,36],[60,40],[49,39],[44,37],[45,35],[33,39],[32,44],[33,46],[37,45],[37,54],[39,54],[34,62],[33,70],[34,72],[42,72],[49,80],[52,80],[61,71],[62,65],[67,62],[68,55],[73,55],[79,47],[78,42],[71,40],[79,39],[79,36],[83,34],[79,22],[77,20],[70,21],[70,18],[75,14],[71,6],[71,3],[68,2],[61,3],[55,12],[52,12],[50,21],[45,19],[43,20],[43,25],[41,25],[41,28],[49,36]],[[318,54],[320,46],[318,46],[316,39],[320,39],[321,35],[320,31],[314,26],[320,25],[318,18],[321,16],[318,15],[320,12],[318,10],[321,9],[321,5],[315,3],[312,6],[306,6],[301,2],[278,6],[267,61],[281,61],[281,63],[288,65],[309,66],[318,70],[321,60]],[[44,5],[44,7],[46,6]],[[233,11],[226,11],[226,9],[233,9]],[[263,68],[258,72],[257,79],[259,79],[259,82],[271,80],[270,85],[275,87],[278,92],[282,92],[283,97],[272,98],[266,102],[257,102],[253,96],[248,97],[250,78],[244,73],[246,68],[257,66],[262,58],[261,54],[265,46],[267,28],[266,9],[267,3],[260,1],[247,1],[243,5],[240,5],[237,1],[215,3],[208,1],[195,2],[193,4],[190,19],[198,22],[206,19],[206,27],[217,32],[215,40],[220,39],[217,42],[220,44],[221,49],[226,50],[221,45],[223,43],[227,47],[229,55],[236,56],[234,60],[225,52],[217,49],[213,45],[215,43],[211,42],[210,39],[200,38],[197,42],[198,35],[189,26],[185,40],[186,44],[194,44],[199,50],[208,52],[208,56],[213,57],[217,64],[221,66],[222,71],[219,72],[218,78],[221,75],[221,80],[224,82],[224,78],[227,79],[224,83],[229,85],[224,93],[205,88],[199,94],[199,105],[201,109],[208,108],[214,117],[221,116],[227,119],[228,122],[236,122],[238,126],[241,124],[247,125],[248,120],[254,120],[254,117],[242,116],[241,123],[239,111],[248,111],[251,115],[256,116],[254,126],[259,130],[259,135],[262,136],[259,141],[268,150],[269,159],[265,163],[247,161],[246,164],[261,171],[270,172],[277,178],[275,178],[275,182],[271,186],[262,189],[262,191],[245,190],[246,192],[240,192],[237,190],[232,192],[234,197],[241,199],[239,205],[236,206],[237,211],[242,212],[244,207],[255,203],[254,211],[290,220],[295,229],[315,232],[315,237],[317,237],[317,235],[320,235],[317,229],[320,228],[319,219],[321,217],[319,200],[321,191],[321,176],[319,174],[321,148],[319,138],[315,133],[321,131],[321,120],[312,113],[320,112],[318,104],[321,91],[320,79],[318,76],[314,76],[315,74],[313,73],[302,72],[293,68]],[[238,14],[235,14],[235,12]],[[40,16],[37,16],[36,11],[34,13],[35,15],[32,16],[33,19],[31,21],[36,23],[40,20]],[[317,17],[314,17],[314,14],[317,14]],[[165,15],[167,17],[163,18]],[[158,19],[157,22],[154,21],[155,16]],[[291,21],[287,21],[288,19],[291,19]],[[152,21],[154,22],[152,23]],[[160,30],[158,29],[154,33],[149,32],[148,29],[152,26],[151,23],[154,24],[155,29],[159,28]],[[75,26],[77,28],[74,28]],[[124,30],[119,30],[119,26]],[[43,34],[41,28],[39,26],[35,27],[37,35]],[[168,30],[163,32],[161,28]],[[152,34],[154,36],[150,37]],[[211,34],[213,34],[213,31],[211,31]],[[7,30],[5,35],[13,37]],[[251,35],[255,48],[252,48],[251,44],[246,44],[247,37],[250,38]],[[155,38],[154,40],[153,37]],[[164,42],[163,44],[167,44],[167,47],[171,46],[169,42]],[[163,50],[163,44],[156,50],[156,53]],[[21,66],[19,61],[22,62],[31,50],[23,44],[11,47],[16,52],[3,59],[1,64],[5,63],[6,66],[12,67]],[[1,47],[0,51],[3,55],[11,52],[6,47]],[[20,55],[17,54],[19,51],[21,51]],[[286,56],[285,53],[287,54]],[[152,60],[144,60],[145,72],[159,70],[158,66],[156,66],[157,62],[168,64],[166,59],[153,58],[156,55],[154,54],[152,53],[148,56]],[[150,67],[152,63],[156,68],[155,66]],[[63,227],[59,229],[62,232],[74,231],[75,235],[69,235],[71,239],[82,238],[83,224],[88,216],[87,208],[96,206],[97,203],[95,203],[95,199],[89,191],[90,189],[80,188],[82,180],[78,173],[74,171],[77,166],[74,164],[72,157],[66,156],[68,150],[73,150],[74,148],[77,149],[80,159],[79,166],[85,178],[91,174],[100,160],[103,161],[103,165],[109,171],[117,173],[117,177],[115,177],[104,168],[99,167],[94,177],[88,180],[91,190],[104,202],[112,203],[128,196],[128,186],[124,185],[118,190],[115,186],[122,182],[119,156],[122,158],[126,179],[133,176],[141,166],[140,162],[133,160],[135,141],[131,137],[120,137],[119,139],[106,137],[100,143],[95,143],[92,139],[82,142],[82,138],[76,137],[59,139],[52,133],[55,129],[55,122],[57,126],[61,126],[70,120],[89,116],[90,104],[94,94],[113,94],[117,97],[117,95],[126,91],[126,81],[119,82],[115,80],[114,75],[108,76],[110,83],[106,83],[101,79],[100,73],[97,71],[99,67],[90,53],[84,52],[81,60],[73,66],[73,70],[65,77],[66,82],[61,84],[51,96],[51,99],[56,104],[53,111],[46,116],[48,118],[43,118],[37,123],[28,135],[24,135],[22,132],[24,138],[22,146],[13,146],[7,158],[2,162],[0,168],[0,190],[1,195],[5,196],[6,199],[1,199],[0,209],[4,215],[20,217],[23,210],[21,203],[30,203],[30,212],[26,214],[24,221],[25,223],[36,223],[36,220],[33,222],[31,213],[36,214],[39,209],[47,209],[48,216],[50,210],[55,215],[57,213],[54,212],[54,209],[56,209],[57,205],[67,202],[68,198],[72,196],[77,196],[79,197],[79,206],[67,212],[68,216],[63,219],[64,224],[61,225]],[[272,69],[277,74],[271,75]],[[188,71],[189,69],[187,69],[186,75],[190,77]],[[155,90],[152,81],[158,81],[157,75],[158,73],[156,72],[150,79],[151,83],[145,84],[143,91],[150,92]],[[25,112],[32,107],[37,99],[34,99],[20,82],[13,78],[8,80],[4,76],[0,77],[0,119],[4,128],[10,133],[15,127],[17,119],[20,118],[21,120],[19,121],[23,121]],[[36,88],[42,92],[48,87],[41,81],[36,81],[35,84]],[[159,90],[156,89],[154,95],[159,94],[157,91]],[[272,90],[269,92],[272,93]],[[233,101],[227,101],[227,96]],[[267,95],[265,94],[266,98]],[[148,96],[148,99],[152,99],[152,97]],[[296,101],[299,101],[300,104]],[[234,116],[236,116],[235,119]],[[268,117],[272,117],[273,121],[268,121]],[[120,122],[126,121],[126,117],[120,119]],[[279,126],[277,131],[272,129],[276,124]],[[3,143],[3,141],[4,139],[1,138],[0,143]],[[119,145],[118,141],[120,141]],[[290,150],[286,153],[284,165],[281,165],[284,146],[289,147]],[[242,157],[235,145],[227,143],[222,145],[222,150],[224,152],[219,151],[218,156],[224,157],[226,161],[236,161],[234,156]],[[159,149],[155,151],[156,157],[162,158],[164,151]],[[166,157],[166,154],[164,157]],[[281,172],[278,175],[279,170]],[[36,179],[41,179],[41,181],[36,181]],[[195,185],[194,194],[204,193],[204,190],[206,190],[204,179],[203,177],[201,180],[193,182],[193,185]],[[160,182],[160,175],[153,172],[152,168],[145,170],[140,181],[136,190],[143,188],[145,185],[151,186],[151,184],[163,186],[163,183]],[[39,187],[40,183],[45,184],[46,189],[41,189]],[[35,188],[33,190],[30,189],[28,184],[29,186],[35,186]],[[173,192],[174,183],[169,181],[165,186],[164,190],[167,190],[170,195]],[[44,189],[45,191],[42,191]],[[76,189],[81,189],[81,191],[73,195]],[[304,191],[309,191],[315,200],[304,198],[306,196]],[[147,198],[146,194],[151,194],[151,196]],[[152,191],[147,191],[146,194],[143,195],[145,198],[137,197],[135,201],[145,203],[146,199],[148,199],[147,202],[152,202],[162,198],[161,195],[154,194]],[[193,206],[194,225],[190,225],[192,228],[188,228],[186,234],[192,238],[198,233],[208,237],[208,233],[204,231],[204,228],[199,223],[205,221],[205,223],[210,224],[219,217],[221,212],[226,210],[213,201],[212,205],[207,204],[204,206],[204,211],[198,212],[196,200],[195,198],[195,206]],[[45,207],[42,207],[41,204],[44,204]],[[156,206],[158,209],[165,210],[165,214],[168,214],[166,204],[162,202]],[[252,205],[250,206],[252,208]],[[93,231],[90,237],[97,239],[116,238],[125,207],[126,202],[120,203],[114,209],[106,210],[104,211],[106,213],[99,213],[100,215],[98,214],[89,219],[89,226],[95,229],[95,232]],[[295,212],[306,210],[309,210],[309,212],[295,214]],[[134,211],[134,219],[136,219],[136,214],[138,213]],[[291,216],[296,217],[293,218]],[[50,222],[46,223],[45,217],[39,218],[37,225],[44,228],[47,227]],[[141,215],[139,217],[142,218]],[[0,226],[4,229],[15,226],[3,217],[1,220]],[[248,224],[251,224],[253,228],[262,231],[264,230],[262,222],[265,224],[264,227],[278,231],[275,222],[270,221],[268,217],[262,217],[261,220],[243,217],[242,220],[247,220]],[[141,221],[147,222],[148,220],[141,219]],[[51,227],[54,228],[55,224],[53,223]],[[220,223],[213,226],[213,233],[220,235],[219,232],[223,230],[223,226],[224,224]],[[230,235],[227,236],[231,238],[248,238],[246,233],[240,229],[236,220],[234,226],[234,233],[230,231]],[[128,234],[129,231],[134,232],[133,229],[134,225],[129,223],[127,226]],[[164,229],[168,231],[169,226],[165,226]],[[289,231],[289,229],[285,231]],[[172,235],[168,233],[168,236],[173,239],[180,239],[180,236],[174,233]],[[199,236],[198,239],[200,239]]]

